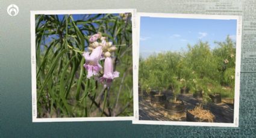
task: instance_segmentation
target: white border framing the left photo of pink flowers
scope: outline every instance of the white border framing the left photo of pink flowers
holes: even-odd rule
[[[32,122],[69,122],[69,121],[131,121],[133,116],[116,117],[87,117],[87,118],[37,118],[37,89],[36,89],[36,14],[99,14],[99,13],[131,13],[133,55],[137,44],[136,9],[101,9],[101,10],[45,10],[30,11],[31,23],[31,92],[32,92]],[[136,58],[133,56],[133,65]],[[133,74],[134,78],[134,74]],[[133,81],[133,89],[136,83]],[[133,97],[134,98],[134,97]]]

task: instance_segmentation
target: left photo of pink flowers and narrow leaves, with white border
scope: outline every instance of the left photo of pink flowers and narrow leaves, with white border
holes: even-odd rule
[[[134,12],[31,12],[33,122],[131,119]]]

